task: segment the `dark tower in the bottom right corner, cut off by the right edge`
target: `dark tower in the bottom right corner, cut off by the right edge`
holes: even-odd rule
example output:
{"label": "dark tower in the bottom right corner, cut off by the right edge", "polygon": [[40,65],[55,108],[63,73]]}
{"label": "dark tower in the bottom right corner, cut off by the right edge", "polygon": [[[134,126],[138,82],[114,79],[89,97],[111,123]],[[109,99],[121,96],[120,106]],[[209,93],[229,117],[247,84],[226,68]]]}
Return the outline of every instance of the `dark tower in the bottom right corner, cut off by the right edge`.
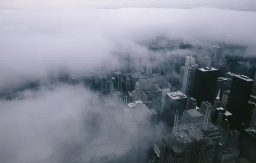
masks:
{"label": "dark tower in the bottom right corner, cut off by the right edge", "polygon": [[241,156],[251,163],[256,160],[256,129],[247,128],[241,132],[240,149]]}

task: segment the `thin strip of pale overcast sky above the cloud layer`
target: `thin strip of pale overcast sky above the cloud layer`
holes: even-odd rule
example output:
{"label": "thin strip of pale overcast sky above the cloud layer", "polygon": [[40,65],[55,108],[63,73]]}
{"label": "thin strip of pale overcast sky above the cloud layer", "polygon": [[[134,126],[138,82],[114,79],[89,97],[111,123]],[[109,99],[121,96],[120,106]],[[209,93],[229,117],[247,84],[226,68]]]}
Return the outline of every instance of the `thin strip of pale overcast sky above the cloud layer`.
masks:
{"label": "thin strip of pale overcast sky above the cloud layer", "polygon": [[255,10],[254,0],[1,0],[4,7],[39,7],[39,6],[93,6],[103,8],[119,7],[161,7],[190,8],[210,6],[239,10]]}

